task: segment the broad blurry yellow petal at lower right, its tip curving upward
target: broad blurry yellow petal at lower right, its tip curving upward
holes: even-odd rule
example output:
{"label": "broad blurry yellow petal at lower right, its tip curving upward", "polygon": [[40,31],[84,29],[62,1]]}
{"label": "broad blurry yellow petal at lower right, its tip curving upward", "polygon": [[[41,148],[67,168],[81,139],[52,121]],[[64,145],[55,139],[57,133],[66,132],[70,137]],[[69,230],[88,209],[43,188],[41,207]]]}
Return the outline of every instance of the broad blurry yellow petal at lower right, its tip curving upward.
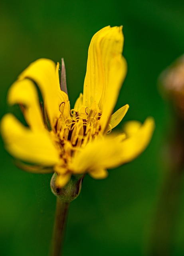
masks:
{"label": "broad blurry yellow petal at lower right, its tip curving upward", "polygon": [[75,154],[69,166],[73,173],[93,173],[97,170],[114,168],[136,158],[150,142],[154,130],[154,120],[147,118],[130,138],[107,136],[93,141]]}

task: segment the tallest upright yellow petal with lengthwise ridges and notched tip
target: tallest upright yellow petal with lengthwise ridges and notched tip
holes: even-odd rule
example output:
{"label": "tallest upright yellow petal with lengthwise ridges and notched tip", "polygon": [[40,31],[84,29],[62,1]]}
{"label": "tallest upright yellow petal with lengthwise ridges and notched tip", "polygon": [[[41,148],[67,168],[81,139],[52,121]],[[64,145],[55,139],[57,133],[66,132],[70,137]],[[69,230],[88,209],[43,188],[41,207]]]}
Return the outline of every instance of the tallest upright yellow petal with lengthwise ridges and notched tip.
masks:
{"label": "tallest upright yellow petal with lengthwise ridges and notched tip", "polygon": [[123,42],[122,26],[108,26],[93,36],[89,46],[83,105],[90,108],[93,102],[99,104],[102,131],[109,122],[127,73],[127,63],[122,56]]}

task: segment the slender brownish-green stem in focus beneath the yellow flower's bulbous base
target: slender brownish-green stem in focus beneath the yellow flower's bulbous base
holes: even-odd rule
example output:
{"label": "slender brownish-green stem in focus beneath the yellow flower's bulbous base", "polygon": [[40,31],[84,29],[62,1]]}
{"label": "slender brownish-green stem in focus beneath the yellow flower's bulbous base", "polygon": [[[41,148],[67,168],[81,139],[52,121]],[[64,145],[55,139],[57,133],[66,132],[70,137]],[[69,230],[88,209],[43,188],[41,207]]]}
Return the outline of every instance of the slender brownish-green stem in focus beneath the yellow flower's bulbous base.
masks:
{"label": "slender brownish-green stem in focus beneath the yellow flower's bulbous base", "polygon": [[69,204],[69,202],[63,202],[57,198],[50,256],[61,255]]}

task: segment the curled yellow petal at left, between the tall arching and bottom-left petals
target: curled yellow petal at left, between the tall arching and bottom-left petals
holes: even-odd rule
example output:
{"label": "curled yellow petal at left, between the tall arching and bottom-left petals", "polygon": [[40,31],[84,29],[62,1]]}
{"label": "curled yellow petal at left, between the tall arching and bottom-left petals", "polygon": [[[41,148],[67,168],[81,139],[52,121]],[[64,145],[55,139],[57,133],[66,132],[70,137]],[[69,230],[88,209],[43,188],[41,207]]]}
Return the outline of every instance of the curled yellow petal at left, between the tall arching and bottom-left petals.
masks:
{"label": "curled yellow petal at left, between the tall arching and bottom-left petals", "polygon": [[24,105],[24,117],[31,130],[43,130],[44,121],[39,106],[38,92],[31,80],[17,81],[8,91],[8,103]]}

